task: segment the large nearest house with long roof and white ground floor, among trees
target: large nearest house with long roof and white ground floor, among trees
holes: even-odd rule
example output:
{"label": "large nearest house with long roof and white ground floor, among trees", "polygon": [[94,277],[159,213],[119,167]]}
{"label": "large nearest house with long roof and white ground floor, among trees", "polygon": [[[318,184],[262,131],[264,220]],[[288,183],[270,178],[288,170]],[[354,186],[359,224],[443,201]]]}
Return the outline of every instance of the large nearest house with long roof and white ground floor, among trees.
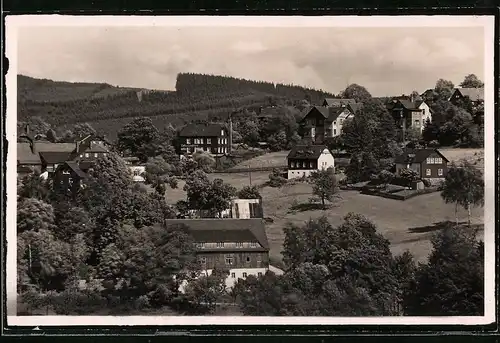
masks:
{"label": "large nearest house with long roof and white ground floor, among trees", "polygon": [[168,219],[165,224],[184,227],[193,237],[203,274],[210,275],[215,267],[229,270],[228,288],[240,278],[258,277],[269,270],[269,243],[262,219]]}

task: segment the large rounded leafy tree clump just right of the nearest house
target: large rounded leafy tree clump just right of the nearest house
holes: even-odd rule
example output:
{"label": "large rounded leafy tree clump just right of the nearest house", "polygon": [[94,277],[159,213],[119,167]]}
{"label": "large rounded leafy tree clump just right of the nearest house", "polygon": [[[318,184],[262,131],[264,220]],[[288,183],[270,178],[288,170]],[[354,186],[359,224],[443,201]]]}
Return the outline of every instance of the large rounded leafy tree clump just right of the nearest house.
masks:
{"label": "large rounded leafy tree clump just right of the nearest house", "polygon": [[303,227],[286,227],[285,273],[240,280],[234,293],[242,311],[246,315],[400,314],[402,285],[411,280],[412,259],[394,259],[389,241],[363,216],[350,213],[344,219],[338,227],[326,217]]}

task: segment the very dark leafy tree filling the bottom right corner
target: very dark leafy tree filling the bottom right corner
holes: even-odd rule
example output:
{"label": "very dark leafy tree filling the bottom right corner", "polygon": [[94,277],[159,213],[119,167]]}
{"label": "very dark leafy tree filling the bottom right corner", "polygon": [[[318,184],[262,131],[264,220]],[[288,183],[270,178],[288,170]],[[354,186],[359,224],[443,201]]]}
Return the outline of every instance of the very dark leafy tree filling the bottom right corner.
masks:
{"label": "very dark leafy tree filling the bottom right corner", "polygon": [[410,316],[484,315],[484,244],[452,225],[432,239],[429,261],[420,264],[405,298]]}

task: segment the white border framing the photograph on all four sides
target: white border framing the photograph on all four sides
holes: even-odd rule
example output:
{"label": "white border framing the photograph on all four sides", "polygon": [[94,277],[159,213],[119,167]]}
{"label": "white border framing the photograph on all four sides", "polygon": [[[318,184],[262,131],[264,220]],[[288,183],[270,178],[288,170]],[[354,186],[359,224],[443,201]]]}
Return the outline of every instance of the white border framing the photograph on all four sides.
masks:
{"label": "white border framing the photograph on all four sides", "polygon": [[[240,26],[240,27],[483,27],[485,82],[484,246],[485,306],[477,317],[220,317],[220,316],[17,316],[16,164],[17,164],[17,30],[23,26]],[[495,299],[495,82],[494,15],[401,16],[70,16],[9,15],[5,17],[8,144],[6,169],[6,298],[7,326],[206,326],[206,325],[487,325],[496,321]]]}

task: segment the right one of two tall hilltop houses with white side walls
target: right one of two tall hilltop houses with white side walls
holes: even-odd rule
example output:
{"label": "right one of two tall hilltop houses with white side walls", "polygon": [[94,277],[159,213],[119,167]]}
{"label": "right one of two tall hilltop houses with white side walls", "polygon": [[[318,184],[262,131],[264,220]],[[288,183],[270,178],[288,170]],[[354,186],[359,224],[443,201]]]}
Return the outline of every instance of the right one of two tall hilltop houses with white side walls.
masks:
{"label": "right one of two tall hilltop houses with white side walls", "polygon": [[423,100],[393,99],[387,104],[387,110],[396,125],[405,130],[416,129],[422,132],[427,119],[432,121],[432,111]]}

